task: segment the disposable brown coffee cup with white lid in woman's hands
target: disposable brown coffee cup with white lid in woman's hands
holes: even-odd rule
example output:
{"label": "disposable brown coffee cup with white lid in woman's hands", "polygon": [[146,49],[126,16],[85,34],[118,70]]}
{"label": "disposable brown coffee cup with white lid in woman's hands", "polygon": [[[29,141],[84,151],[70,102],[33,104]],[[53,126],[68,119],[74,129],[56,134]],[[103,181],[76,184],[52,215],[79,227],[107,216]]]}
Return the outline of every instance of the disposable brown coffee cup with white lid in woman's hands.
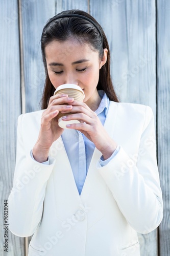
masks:
{"label": "disposable brown coffee cup with white lid in woman's hands", "polygon": [[[83,99],[85,98],[83,90],[80,88],[80,86],[76,86],[76,84],[71,84],[71,83],[66,83],[62,84],[59,86],[56,91],[54,92],[54,95],[56,94],[67,94],[68,97],[74,98],[75,100],[83,102]],[[63,121],[62,117],[63,116],[68,116],[71,115],[72,113],[66,113],[63,114],[61,112],[58,113],[57,115],[57,120],[58,120],[58,125],[63,128],[67,129],[66,125],[67,124],[72,124],[72,123],[80,123],[79,120],[69,120],[69,121]]]}

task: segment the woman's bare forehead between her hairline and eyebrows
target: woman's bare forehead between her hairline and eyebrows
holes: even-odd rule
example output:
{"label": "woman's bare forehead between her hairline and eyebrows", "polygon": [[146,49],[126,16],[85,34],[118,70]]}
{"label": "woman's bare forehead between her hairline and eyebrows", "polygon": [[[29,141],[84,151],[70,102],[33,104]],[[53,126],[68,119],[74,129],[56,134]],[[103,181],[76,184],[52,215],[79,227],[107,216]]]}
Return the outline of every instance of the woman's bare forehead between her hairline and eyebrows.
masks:
{"label": "woman's bare forehead between her hairline and eyebrows", "polygon": [[45,58],[50,61],[55,58],[55,61],[73,60],[77,58],[92,59],[98,57],[99,53],[91,49],[89,44],[80,42],[76,39],[66,41],[52,41],[45,47]]}

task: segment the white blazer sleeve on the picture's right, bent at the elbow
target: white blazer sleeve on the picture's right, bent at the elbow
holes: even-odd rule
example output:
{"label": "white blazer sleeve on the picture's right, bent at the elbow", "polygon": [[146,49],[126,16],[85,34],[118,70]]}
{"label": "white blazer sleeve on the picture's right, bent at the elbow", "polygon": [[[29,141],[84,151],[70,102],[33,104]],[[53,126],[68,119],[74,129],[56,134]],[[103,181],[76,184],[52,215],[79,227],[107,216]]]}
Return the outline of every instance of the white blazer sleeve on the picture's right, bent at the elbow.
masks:
{"label": "white blazer sleeve on the picture's right, bent at the elbow", "polygon": [[149,106],[145,108],[138,154],[129,157],[120,146],[119,152],[107,165],[101,167],[98,162],[97,166],[131,227],[139,233],[149,233],[157,228],[163,217],[163,201],[154,116]]}

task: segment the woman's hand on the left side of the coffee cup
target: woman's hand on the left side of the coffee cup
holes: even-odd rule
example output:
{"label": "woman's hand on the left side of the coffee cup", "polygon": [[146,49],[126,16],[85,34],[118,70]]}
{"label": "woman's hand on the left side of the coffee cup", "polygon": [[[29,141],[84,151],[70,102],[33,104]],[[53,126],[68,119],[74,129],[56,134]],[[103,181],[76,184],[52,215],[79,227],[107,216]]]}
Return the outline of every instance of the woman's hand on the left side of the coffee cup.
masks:
{"label": "woman's hand on the left side of the coffee cup", "polygon": [[65,103],[68,104],[72,101],[74,101],[73,98],[64,94],[57,94],[50,98],[47,109],[42,113],[38,140],[33,147],[33,156],[36,161],[44,162],[47,160],[51,145],[64,131],[58,125],[56,116],[60,111],[71,110],[72,105],[66,105]]}

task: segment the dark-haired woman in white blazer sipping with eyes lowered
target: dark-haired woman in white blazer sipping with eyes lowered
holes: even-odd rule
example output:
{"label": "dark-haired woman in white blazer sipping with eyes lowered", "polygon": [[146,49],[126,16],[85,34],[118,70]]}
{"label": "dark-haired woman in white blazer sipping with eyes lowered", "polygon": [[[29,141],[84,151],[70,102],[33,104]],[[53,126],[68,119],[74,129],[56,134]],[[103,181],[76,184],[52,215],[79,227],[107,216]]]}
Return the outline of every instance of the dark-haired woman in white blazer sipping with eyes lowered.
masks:
{"label": "dark-haired woman in white blazer sipping with eyes lowered", "polygon": [[[157,228],[163,211],[152,110],[118,102],[107,38],[86,12],[51,18],[41,49],[43,110],[18,118],[10,230],[34,234],[29,256],[138,256],[137,232]],[[65,83],[84,102],[53,96]],[[59,112],[80,123],[62,129]]]}

